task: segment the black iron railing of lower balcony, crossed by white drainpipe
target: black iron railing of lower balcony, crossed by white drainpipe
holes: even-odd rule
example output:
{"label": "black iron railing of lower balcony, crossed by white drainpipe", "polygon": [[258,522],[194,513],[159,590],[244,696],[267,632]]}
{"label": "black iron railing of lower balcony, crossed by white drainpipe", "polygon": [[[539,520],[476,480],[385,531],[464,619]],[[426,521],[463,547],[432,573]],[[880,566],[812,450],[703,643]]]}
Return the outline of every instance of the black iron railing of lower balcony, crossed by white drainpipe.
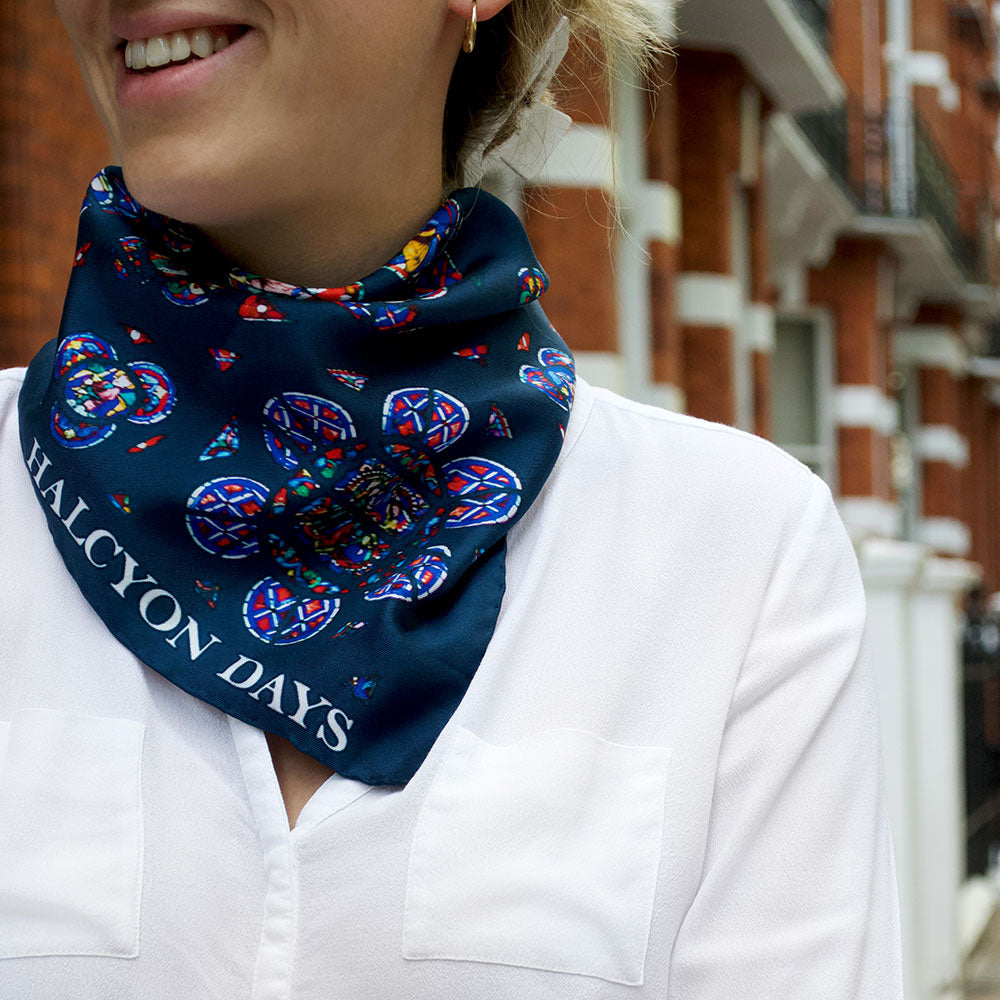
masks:
{"label": "black iron railing of lower balcony, crossed by white drainpipe", "polygon": [[866,113],[848,100],[796,121],[858,211],[934,222],[965,277],[982,280],[984,243],[963,231],[958,181],[911,106]]}

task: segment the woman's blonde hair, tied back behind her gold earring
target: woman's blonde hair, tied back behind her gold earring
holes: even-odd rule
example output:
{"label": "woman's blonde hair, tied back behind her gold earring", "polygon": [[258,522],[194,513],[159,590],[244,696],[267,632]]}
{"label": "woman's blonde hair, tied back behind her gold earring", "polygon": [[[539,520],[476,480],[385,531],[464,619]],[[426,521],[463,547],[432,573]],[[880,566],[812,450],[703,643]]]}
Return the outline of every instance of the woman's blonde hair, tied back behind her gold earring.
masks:
{"label": "woman's blonde hair, tied back behind her gold earring", "polygon": [[474,51],[459,56],[445,105],[445,178],[459,175],[462,147],[470,139],[493,133],[484,151],[489,153],[517,131],[521,112],[534,100],[557,104],[551,88],[542,94],[525,90],[535,57],[563,15],[571,37],[602,67],[612,119],[616,78],[645,80],[671,51],[651,0],[511,0],[480,22]]}

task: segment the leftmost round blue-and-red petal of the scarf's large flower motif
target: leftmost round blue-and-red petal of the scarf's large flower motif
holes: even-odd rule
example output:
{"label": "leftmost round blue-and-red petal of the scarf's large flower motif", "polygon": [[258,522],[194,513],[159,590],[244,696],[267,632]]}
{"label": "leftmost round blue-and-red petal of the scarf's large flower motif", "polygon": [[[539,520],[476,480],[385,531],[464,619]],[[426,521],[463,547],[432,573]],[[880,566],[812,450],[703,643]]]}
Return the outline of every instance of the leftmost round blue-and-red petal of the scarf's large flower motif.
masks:
{"label": "leftmost round blue-and-red petal of the scarf's large flower motif", "polygon": [[244,559],[260,549],[257,522],[267,487],[242,476],[223,476],[199,486],[188,499],[191,537],[206,552],[223,559]]}

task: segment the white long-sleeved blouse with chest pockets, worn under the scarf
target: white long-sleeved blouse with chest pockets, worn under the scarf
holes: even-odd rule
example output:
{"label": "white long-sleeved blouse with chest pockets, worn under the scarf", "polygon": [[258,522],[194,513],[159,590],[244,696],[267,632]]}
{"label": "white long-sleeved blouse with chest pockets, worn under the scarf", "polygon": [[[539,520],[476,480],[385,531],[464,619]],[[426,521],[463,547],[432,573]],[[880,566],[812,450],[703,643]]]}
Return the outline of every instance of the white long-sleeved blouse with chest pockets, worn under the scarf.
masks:
{"label": "white long-sleeved blouse with chest pockets, worn under the scarf", "polygon": [[864,592],[805,466],[581,381],[430,756],[403,789],[331,777],[289,831],[263,732],[145,667],[63,568],[22,374],[0,997],[900,1000]]}

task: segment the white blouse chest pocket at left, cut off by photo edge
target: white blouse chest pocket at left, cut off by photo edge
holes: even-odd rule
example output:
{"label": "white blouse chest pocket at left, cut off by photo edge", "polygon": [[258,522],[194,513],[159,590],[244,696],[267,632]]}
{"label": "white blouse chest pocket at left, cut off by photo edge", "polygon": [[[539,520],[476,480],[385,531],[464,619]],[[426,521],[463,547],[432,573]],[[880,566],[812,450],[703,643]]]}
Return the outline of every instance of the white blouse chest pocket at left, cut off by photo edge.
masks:
{"label": "white blouse chest pocket at left, cut off by photo edge", "polygon": [[141,723],[0,722],[0,958],[139,951]]}

